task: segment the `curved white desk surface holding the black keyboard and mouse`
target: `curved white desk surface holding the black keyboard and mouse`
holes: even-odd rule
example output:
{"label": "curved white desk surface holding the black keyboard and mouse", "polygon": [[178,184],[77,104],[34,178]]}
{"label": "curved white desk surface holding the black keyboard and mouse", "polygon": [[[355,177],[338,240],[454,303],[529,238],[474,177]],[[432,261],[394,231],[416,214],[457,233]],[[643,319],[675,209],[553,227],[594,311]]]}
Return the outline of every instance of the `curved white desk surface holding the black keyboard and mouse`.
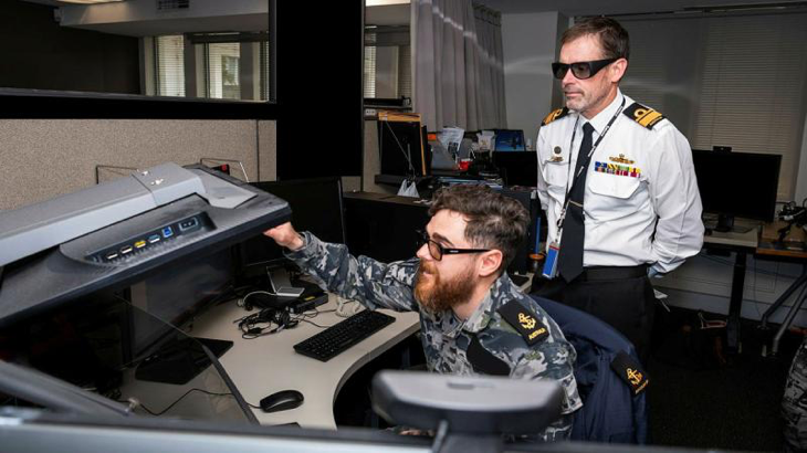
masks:
{"label": "curved white desk surface holding the black keyboard and mouse", "polygon": [[[318,308],[321,312],[336,308],[335,296]],[[211,308],[196,320],[189,334],[234,343],[219,360],[247,402],[258,405],[261,399],[280,390],[293,389],[303,393],[305,401],[296,409],[273,413],[253,409],[261,424],[296,422],[303,428],[335,430],[333,404],[345,381],[363,365],[420,328],[417,313],[382,312],[395,316],[396,322],[326,362],[294,351],[295,344],[323,330],[305,322],[265,337],[241,338],[241,330],[233,320],[249,312],[234,302]],[[322,313],[311,320],[332,326],[342,319],[336,313]]]}

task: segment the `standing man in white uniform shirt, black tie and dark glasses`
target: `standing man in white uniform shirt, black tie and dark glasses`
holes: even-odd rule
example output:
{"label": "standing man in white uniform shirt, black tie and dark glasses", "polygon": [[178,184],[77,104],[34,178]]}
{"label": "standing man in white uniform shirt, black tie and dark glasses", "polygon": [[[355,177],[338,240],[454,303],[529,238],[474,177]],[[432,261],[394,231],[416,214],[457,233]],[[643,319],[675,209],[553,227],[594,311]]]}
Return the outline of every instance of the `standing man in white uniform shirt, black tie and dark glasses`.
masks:
{"label": "standing man in white uniform shirt, black tie and dark glasses", "polygon": [[553,73],[566,107],[544,119],[537,139],[556,267],[534,292],[609,323],[646,359],[656,302],[648,276],[696,254],[703,223],[689,141],[619,89],[628,56],[628,32],[609,18],[578,22],[560,40]]}

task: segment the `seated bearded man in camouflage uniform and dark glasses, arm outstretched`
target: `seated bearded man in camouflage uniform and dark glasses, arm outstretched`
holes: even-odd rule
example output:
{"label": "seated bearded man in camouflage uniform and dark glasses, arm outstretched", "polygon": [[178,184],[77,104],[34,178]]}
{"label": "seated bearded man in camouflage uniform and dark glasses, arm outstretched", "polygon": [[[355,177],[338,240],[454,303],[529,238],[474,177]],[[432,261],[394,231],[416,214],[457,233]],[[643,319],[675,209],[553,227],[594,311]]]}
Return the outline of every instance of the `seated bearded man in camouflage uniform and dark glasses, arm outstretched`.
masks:
{"label": "seated bearded man in camouflage uniform and dark glasses, arm outstretched", "polygon": [[454,186],[436,194],[429,214],[417,259],[390,264],[356,259],[291,223],[264,234],[332,293],[370,309],[419,312],[429,370],[556,380],[565,391],[563,417],[537,434],[568,439],[572,413],[583,405],[575,349],[504,272],[526,234],[526,210],[488,187]]}

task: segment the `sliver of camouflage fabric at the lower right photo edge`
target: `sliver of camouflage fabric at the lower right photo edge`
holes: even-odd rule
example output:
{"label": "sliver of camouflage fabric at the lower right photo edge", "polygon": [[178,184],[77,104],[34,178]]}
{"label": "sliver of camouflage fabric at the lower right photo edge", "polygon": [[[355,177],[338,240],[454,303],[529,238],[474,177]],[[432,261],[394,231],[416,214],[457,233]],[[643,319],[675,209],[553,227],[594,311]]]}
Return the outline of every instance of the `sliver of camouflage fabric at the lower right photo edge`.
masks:
{"label": "sliver of camouflage fabric at the lower right photo edge", "polygon": [[785,420],[785,450],[807,451],[807,337],[793,358],[782,399]]}

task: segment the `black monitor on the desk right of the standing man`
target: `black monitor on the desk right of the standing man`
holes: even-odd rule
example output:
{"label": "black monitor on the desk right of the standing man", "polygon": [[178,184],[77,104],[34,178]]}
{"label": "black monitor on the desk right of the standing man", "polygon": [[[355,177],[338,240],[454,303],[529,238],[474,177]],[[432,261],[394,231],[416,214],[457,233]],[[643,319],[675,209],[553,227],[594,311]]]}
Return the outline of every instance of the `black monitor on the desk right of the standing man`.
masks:
{"label": "black monitor on the desk right of the standing man", "polygon": [[780,155],[692,150],[703,210],[719,214],[717,231],[734,218],[772,222],[776,212]]}

